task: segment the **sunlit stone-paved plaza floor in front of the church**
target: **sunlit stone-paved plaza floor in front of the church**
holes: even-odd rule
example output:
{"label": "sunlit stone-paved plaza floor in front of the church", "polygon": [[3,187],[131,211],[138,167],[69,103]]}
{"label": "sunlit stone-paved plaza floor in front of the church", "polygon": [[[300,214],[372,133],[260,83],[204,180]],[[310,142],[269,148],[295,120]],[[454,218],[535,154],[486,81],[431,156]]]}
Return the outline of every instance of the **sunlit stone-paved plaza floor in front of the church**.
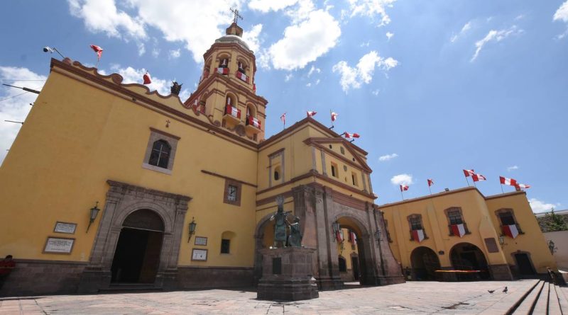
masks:
{"label": "sunlit stone-paved plaza floor in front of the church", "polygon": [[512,294],[535,283],[407,282],[323,291],[319,299],[298,302],[257,300],[253,290],[10,297],[0,298],[0,314],[503,314]]}

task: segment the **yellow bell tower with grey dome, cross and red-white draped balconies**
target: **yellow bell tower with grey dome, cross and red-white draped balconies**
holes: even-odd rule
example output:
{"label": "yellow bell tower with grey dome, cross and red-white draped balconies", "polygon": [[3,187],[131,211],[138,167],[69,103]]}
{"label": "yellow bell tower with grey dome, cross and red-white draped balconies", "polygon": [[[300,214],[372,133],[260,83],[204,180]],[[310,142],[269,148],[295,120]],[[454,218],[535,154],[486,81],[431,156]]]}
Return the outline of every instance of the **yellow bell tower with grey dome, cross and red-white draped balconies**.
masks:
{"label": "yellow bell tower with grey dome, cross and red-white draped balconies", "polygon": [[256,95],[256,59],[236,23],[239,11],[231,11],[234,21],[204,53],[200,83],[184,105],[213,125],[258,143],[264,139],[268,101]]}

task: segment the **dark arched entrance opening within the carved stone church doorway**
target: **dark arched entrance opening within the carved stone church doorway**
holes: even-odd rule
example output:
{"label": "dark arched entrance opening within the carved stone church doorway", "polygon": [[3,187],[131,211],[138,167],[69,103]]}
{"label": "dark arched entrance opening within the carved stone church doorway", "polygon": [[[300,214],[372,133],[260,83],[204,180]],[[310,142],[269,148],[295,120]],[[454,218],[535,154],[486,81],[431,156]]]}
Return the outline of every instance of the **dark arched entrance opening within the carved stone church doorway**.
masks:
{"label": "dark arched entrance opening within the carved stone church doorway", "polygon": [[124,219],[111,266],[111,282],[153,283],[160,264],[164,223],[152,210]]}

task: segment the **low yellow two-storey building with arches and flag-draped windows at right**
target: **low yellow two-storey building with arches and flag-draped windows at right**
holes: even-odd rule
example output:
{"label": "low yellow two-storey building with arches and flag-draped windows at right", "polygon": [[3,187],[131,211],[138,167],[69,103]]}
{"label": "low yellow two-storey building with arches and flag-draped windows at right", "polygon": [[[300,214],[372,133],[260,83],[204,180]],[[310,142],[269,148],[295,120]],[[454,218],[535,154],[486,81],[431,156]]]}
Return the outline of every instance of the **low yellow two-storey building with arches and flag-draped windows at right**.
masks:
{"label": "low yellow two-storey building with arches and flag-draped windows at right", "polygon": [[557,269],[523,191],[486,197],[461,188],[379,210],[395,258],[413,280],[511,280]]}

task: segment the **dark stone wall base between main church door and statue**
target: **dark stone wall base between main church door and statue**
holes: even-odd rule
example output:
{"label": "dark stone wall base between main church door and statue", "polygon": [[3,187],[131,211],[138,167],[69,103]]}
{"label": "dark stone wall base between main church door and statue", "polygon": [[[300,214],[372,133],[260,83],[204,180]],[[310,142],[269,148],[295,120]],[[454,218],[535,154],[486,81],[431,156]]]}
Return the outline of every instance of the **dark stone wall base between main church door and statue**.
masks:
{"label": "dark stone wall base between main church door and statue", "polygon": [[253,268],[180,266],[177,283],[180,290],[252,287]]}

